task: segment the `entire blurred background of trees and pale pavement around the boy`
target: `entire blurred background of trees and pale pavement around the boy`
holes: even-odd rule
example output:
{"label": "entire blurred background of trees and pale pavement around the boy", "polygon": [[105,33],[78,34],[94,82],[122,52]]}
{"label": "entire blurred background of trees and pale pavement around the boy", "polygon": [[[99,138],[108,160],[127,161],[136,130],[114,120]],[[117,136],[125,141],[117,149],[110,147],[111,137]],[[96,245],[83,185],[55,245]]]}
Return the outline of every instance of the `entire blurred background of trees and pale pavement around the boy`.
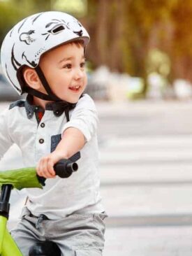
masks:
{"label": "entire blurred background of trees and pale pavement around the boy", "polygon": [[[27,15],[61,10],[91,36],[87,93],[100,123],[104,256],[192,252],[192,1],[0,0],[0,45]],[[0,111],[19,99],[0,67]],[[20,167],[13,145],[0,169]],[[14,192],[10,228],[23,205]]]}

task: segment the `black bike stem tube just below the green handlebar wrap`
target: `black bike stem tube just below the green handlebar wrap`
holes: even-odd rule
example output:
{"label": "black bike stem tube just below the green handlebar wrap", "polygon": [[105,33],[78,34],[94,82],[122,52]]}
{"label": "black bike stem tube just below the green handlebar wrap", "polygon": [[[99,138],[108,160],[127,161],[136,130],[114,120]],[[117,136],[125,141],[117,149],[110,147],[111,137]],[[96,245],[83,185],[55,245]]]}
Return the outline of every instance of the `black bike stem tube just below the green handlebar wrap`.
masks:
{"label": "black bike stem tube just below the green handlebar wrap", "polygon": [[4,216],[8,219],[9,215],[9,199],[10,199],[10,192],[12,190],[12,185],[6,184],[2,185],[1,187],[1,197],[0,197],[0,215]]}

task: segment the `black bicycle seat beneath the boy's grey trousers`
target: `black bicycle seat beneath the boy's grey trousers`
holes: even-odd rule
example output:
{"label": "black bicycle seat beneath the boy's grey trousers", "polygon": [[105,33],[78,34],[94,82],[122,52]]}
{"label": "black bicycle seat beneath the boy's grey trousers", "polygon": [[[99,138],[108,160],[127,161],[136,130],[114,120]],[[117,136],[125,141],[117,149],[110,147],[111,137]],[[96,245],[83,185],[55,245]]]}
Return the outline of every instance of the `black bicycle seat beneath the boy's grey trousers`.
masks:
{"label": "black bicycle seat beneath the boy's grey trousers", "polygon": [[61,256],[57,243],[52,241],[38,241],[29,249],[29,256]]}

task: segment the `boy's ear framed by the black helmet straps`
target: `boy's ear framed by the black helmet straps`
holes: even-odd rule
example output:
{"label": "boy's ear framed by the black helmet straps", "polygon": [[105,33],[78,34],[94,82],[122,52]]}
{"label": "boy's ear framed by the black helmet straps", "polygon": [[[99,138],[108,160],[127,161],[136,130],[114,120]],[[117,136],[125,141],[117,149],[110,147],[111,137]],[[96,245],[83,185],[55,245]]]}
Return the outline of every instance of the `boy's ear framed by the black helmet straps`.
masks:
{"label": "boy's ear framed by the black helmet straps", "polygon": [[36,73],[35,69],[24,67],[22,74],[25,82],[27,83],[27,85],[29,85],[29,87],[32,87],[36,90],[40,88],[40,79],[38,78],[38,74]]}

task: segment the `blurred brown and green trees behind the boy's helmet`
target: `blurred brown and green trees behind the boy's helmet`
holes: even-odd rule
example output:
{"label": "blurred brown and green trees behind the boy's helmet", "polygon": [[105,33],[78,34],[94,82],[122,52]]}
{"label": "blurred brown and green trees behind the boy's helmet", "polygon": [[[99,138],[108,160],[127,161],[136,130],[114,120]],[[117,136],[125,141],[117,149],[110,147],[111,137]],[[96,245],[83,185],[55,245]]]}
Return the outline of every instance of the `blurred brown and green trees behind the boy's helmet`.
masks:
{"label": "blurred brown and green trees behind the boy's helmet", "polygon": [[[170,57],[170,80],[192,81],[192,1],[183,0],[0,0],[0,45],[16,22],[32,13],[61,8],[80,18],[91,36],[93,66],[147,77],[147,57],[158,49]],[[81,12],[75,12],[75,8]],[[86,14],[87,10],[87,14]],[[145,79],[146,80],[146,79]],[[144,87],[144,93],[146,86]]]}

